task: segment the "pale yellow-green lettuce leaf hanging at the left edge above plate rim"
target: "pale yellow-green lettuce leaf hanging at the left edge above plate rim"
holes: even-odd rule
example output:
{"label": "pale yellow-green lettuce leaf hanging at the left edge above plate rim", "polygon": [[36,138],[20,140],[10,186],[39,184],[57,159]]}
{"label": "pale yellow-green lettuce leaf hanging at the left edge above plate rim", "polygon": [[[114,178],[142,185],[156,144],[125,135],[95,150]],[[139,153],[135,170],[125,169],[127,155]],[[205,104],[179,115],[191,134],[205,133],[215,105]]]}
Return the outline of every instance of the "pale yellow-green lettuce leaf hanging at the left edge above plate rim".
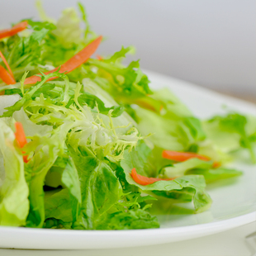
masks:
{"label": "pale yellow-green lettuce leaf hanging at the left edge above plate rim", "polygon": [[28,194],[21,152],[17,150],[13,120],[0,119],[0,225],[26,224],[29,211]]}

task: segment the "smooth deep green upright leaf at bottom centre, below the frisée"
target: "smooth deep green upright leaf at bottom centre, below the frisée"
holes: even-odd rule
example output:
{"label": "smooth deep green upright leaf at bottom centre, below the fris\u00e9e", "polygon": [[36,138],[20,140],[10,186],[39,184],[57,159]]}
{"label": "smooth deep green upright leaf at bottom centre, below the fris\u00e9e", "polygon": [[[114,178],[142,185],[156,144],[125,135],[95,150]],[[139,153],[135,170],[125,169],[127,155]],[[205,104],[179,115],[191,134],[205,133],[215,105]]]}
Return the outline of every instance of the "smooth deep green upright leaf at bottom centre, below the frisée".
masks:
{"label": "smooth deep green upright leaf at bottom centre, below the fris\u00e9e", "polygon": [[72,154],[82,192],[81,214],[74,228],[92,230],[97,218],[120,199],[122,189],[115,172],[108,164],[92,154],[88,155],[88,150],[83,150],[83,154]]}

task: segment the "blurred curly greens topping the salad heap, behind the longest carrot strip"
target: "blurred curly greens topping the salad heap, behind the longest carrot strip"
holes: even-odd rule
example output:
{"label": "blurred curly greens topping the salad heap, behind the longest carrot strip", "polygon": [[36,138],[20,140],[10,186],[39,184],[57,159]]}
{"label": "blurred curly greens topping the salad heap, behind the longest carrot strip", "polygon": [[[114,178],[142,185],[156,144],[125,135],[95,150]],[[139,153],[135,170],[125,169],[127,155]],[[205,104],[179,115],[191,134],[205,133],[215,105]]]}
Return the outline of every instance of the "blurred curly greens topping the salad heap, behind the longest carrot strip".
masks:
{"label": "blurred curly greens topping the salad heap, behind the longest carrot strip", "polygon": [[[35,74],[64,64],[97,37],[88,26],[88,19],[81,4],[78,4],[78,7],[82,18],[73,8],[67,8],[58,21],[46,17],[40,4],[39,6],[43,21],[26,19],[29,30],[21,36],[15,35],[3,40],[0,45],[16,81],[21,79],[25,71]],[[82,22],[86,24],[85,31],[81,26]],[[79,73],[77,70],[73,73],[76,74],[77,82]],[[69,76],[73,77],[73,73]]]}

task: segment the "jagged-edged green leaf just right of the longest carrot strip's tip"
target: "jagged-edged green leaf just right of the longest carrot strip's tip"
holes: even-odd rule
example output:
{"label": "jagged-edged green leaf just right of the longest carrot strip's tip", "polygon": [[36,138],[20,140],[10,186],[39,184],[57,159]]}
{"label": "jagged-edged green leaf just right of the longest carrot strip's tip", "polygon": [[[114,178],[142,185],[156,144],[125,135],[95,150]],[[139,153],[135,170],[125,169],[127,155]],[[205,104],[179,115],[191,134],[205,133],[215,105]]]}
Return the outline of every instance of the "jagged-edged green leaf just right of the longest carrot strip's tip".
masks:
{"label": "jagged-edged green leaf just right of the longest carrot strip's tip", "polygon": [[[149,89],[149,78],[142,73],[139,61],[132,61],[127,67],[118,61],[128,52],[130,48],[122,48],[109,59],[90,59],[84,65],[88,76],[120,103],[152,93]],[[92,72],[92,67],[97,67],[97,73]]]}

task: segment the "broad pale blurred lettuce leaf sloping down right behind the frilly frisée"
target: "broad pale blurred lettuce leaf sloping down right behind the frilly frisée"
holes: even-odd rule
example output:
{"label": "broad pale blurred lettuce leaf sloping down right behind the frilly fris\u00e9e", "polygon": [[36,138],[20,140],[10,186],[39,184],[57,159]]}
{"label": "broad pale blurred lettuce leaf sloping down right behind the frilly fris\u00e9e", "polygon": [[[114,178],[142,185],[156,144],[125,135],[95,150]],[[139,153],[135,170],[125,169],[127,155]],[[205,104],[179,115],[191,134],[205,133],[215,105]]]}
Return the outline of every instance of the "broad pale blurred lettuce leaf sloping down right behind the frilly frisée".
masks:
{"label": "broad pale blurred lettuce leaf sloping down right behind the frilly fris\u00e9e", "polygon": [[[150,105],[149,99],[151,99]],[[148,97],[140,99],[135,108],[135,120],[142,134],[153,133],[149,140],[161,149],[188,151],[206,139],[201,127],[201,121],[192,116],[173,93],[161,89]],[[138,102],[135,102],[138,103]],[[160,105],[160,107],[159,107]]]}

